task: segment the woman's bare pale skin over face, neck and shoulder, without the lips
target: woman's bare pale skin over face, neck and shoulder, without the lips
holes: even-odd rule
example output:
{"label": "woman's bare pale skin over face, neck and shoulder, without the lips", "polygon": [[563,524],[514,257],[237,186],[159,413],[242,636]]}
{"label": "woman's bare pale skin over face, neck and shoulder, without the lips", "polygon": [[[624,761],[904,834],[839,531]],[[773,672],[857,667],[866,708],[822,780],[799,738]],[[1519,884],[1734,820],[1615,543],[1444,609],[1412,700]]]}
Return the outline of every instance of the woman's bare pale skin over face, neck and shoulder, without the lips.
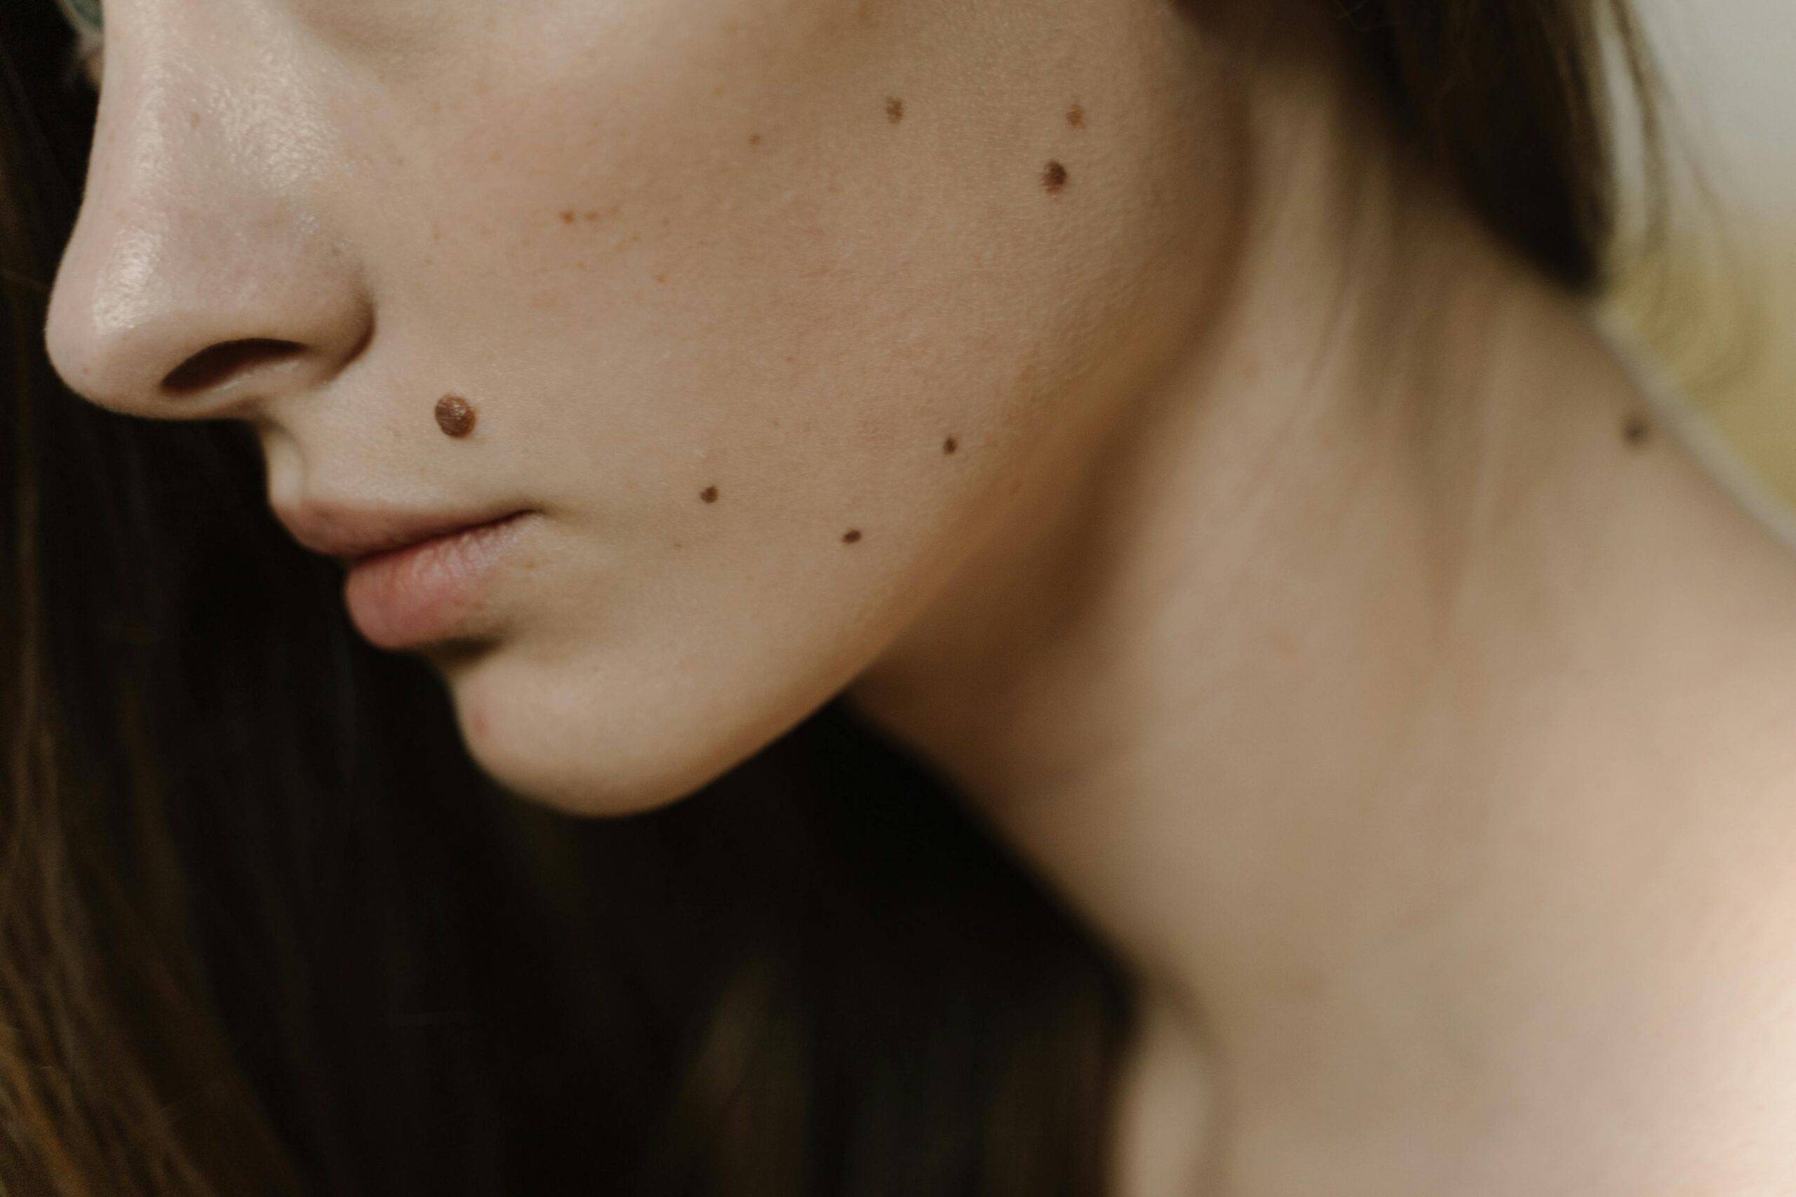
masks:
{"label": "woman's bare pale skin over face, neck and shoulder, without the lips", "polygon": [[846,690],[1131,969],[1121,1197],[1789,1192],[1796,563],[1320,7],[111,0],[52,359],[530,503],[521,796]]}

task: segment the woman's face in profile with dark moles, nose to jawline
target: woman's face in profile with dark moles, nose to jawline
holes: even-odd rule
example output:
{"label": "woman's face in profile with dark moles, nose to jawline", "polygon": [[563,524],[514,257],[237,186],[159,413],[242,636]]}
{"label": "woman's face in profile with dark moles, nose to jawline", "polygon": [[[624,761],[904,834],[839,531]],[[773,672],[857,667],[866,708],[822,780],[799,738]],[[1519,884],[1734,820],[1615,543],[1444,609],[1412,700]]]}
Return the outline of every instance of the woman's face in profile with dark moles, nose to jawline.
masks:
{"label": "woman's face in profile with dark moles, nose to jawline", "polygon": [[108,0],[52,359],[250,421],[318,548],[530,512],[350,609],[497,780],[641,809],[876,665],[1171,358],[1200,41],[1171,0]]}

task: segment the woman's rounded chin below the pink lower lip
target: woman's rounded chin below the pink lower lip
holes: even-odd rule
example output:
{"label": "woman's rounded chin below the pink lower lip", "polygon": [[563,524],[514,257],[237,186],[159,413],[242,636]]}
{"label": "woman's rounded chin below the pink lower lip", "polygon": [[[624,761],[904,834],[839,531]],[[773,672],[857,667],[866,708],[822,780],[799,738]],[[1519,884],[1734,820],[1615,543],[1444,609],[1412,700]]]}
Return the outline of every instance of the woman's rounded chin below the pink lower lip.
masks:
{"label": "woman's rounded chin below the pink lower lip", "polygon": [[828,699],[756,705],[751,694],[697,692],[670,685],[665,674],[650,681],[503,656],[454,672],[449,690],[481,771],[517,798],[587,818],[672,805]]}

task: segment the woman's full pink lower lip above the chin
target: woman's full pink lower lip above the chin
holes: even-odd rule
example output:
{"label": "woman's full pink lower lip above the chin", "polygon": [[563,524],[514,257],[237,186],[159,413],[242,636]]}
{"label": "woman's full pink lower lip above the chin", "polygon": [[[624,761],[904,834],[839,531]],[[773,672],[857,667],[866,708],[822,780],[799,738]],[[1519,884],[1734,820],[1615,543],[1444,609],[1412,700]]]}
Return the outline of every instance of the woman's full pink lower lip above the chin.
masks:
{"label": "woman's full pink lower lip above the chin", "polygon": [[379,649],[451,638],[517,541],[530,512],[474,525],[357,561],[343,584],[356,629]]}

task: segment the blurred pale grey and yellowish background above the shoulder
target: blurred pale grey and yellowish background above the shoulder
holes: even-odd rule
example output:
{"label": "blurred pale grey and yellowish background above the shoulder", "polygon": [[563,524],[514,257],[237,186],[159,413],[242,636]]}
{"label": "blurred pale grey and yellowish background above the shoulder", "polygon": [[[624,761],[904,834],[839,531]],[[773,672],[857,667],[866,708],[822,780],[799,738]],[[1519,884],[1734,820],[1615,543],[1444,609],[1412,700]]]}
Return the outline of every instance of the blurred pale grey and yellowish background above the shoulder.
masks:
{"label": "blurred pale grey and yellowish background above the shoulder", "polygon": [[1681,185],[1618,304],[1796,505],[1796,0],[1638,5],[1674,106]]}

